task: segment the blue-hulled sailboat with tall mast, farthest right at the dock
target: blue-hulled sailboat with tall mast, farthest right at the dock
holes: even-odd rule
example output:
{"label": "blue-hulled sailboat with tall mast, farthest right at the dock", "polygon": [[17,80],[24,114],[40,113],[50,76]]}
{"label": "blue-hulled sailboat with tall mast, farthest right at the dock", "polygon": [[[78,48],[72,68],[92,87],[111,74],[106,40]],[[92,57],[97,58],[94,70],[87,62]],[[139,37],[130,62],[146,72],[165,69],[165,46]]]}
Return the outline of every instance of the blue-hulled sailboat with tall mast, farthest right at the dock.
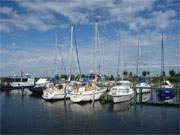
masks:
{"label": "blue-hulled sailboat with tall mast, farthest right at the dock", "polygon": [[[172,95],[175,95],[175,90],[168,89],[173,88],[174,86],[165,78],[164,74],[164,42],[163,42],[163,33],[161,35],[161,84],[160,87],[162,89],[159,90],[158,95],[159,97],[171,97]],[[163,89],[165,88],[165,89]]]}

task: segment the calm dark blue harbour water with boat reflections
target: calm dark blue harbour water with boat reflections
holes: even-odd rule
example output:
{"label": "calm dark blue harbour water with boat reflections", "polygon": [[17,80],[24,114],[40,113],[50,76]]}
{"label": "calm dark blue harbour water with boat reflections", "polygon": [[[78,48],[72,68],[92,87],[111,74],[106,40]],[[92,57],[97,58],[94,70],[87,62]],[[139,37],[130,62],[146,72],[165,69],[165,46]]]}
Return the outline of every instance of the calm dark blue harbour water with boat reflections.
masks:
{"label": "calm dark blue harbour water with boat reflections", "polygon": [[46,102],[29,93],[22,97],[17,91],[1,93],[0,102],[1,132],[6,134],[180,133],[176,107]]}

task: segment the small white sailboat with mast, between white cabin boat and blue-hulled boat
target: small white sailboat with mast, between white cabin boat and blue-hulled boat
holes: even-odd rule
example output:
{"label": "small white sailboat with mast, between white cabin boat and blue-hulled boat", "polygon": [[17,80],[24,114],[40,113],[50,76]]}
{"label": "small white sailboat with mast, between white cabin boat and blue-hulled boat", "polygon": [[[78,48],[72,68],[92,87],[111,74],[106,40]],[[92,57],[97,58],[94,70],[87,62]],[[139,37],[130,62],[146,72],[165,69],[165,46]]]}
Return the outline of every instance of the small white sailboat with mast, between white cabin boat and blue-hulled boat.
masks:
{"label": "small white sailboat with mast, between white cabin boat and blue-hulled boat", "polygon": [[[138,55],[137,55],[137,67],[136,67],[136,75],[137,77],[139,77],[139,61],[140,61],[140,44],[139,44],[139,39],[138,39]],[[139,79],[138,79],[139,81]],[[148,92],[151,92],[151,89],[149,89],[151,87],[151,85],[149,85],[148,83],[146,83],[145,81],[141,81],[141,82],[138,82],[136,84],[136,87],[143,87],[142,89],[142,93],[148,93]],[[136,89],[136,93],[139,94],[140,93],[140,88],[137,88]]]}

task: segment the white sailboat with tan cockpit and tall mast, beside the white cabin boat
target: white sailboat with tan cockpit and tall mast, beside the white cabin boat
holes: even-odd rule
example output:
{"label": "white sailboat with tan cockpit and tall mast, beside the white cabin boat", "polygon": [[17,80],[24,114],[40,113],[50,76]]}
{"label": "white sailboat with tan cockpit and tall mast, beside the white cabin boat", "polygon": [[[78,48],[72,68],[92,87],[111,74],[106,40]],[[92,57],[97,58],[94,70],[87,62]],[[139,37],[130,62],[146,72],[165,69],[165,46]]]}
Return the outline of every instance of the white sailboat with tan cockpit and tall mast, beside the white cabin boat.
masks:
{"label": "white sailboat with tan cockpit and tall mast, beside the white cabin boat", "polygon": [[[100,44],[99,44],[99,32],[98,32],[98,23],[95,23],[95,50],[94,50],[94,57],[95,59],[99,60],[99,65],[97,69],[100,73],[102,69],[102,52],[100,51]],[[99,52],[97,52],[99,51]],[[98,58],[96,54],[99,53],[101,56]],[[95,60],[96,61],[96,60]],[[95,62],[94,61],[94,62]],[[95,65],[97,63],[95,62]],[[97,86],[97,78],[90,83],[85,85],[77,84],[77,89],[73,90],[70,95],[70,100],[72,102],[88,102],[88,101],[95,101],[99,100],[100,97],[106,92],[107,88],[105,87],[98,87]]]}

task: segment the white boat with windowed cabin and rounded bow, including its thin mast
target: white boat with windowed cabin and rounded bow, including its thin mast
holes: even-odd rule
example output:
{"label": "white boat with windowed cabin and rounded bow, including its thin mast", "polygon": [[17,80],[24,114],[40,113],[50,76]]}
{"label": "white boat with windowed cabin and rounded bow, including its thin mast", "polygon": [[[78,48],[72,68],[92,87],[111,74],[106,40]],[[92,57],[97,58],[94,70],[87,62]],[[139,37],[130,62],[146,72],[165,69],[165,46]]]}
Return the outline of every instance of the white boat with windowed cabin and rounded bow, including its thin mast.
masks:
{"label": "white boat with windowed cabin and rounded bow, including its thin mast", "polygon": [[[120,53],[120,49],[122,51],[122,48],[120,48],[119,45],[118,53]],[[119,59],[120,59],[120,54],[118,54],[117,75],[119,71]],[[134,91],[132,89],[132,83],[130,81],[124,80],[123,75],[121,81],[118,81],[117,84],[113,86],[108,92],[108,99],[111,100],[113,103],[130,101],[133,97],[134,97]]]}

